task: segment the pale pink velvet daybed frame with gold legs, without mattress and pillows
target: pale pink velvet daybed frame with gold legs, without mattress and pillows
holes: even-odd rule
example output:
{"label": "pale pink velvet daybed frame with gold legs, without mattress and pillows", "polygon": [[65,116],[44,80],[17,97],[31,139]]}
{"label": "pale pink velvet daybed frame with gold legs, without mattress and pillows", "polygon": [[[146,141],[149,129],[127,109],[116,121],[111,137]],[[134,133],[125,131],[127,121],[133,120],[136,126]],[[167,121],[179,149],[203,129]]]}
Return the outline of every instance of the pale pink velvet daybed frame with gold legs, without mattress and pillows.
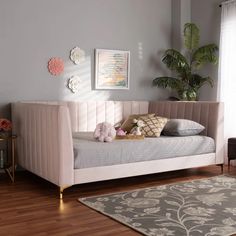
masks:
{"label": "pale pink velvet daybed frame with gold legs, without mattress and pillows", "polygon": [[[18,135],[18,164],[59,186],[61,197],[63,190],[74,184],[207,165],[222,165],[224,161],[222,105],[218,102],[172,101],[13,103],[13,127]],[[205,126],[202,135],[214,139],[214,150],[205,154],[186,154],[187,156],[153,160],[147,155],[152,152],[149,148],[153,148],[153,145],[149,147],[148,140],[145,140],[147,145],[146,148],[140,149],[139,161],[132,162],[129,157],[124,156],[124,153],[120,153],[120,156],[123,155],[129,161],[102,166],[101,164],[85,165],[75,169],[72,132],[93,131],[97,123],[108,121],[115,124],[130,114],[148,112],[168,118],[190,119],[202,124]],[[76,142],[78,143],[79,140],[77,139]],[[112,145],[111,143],[100,144],[103,145],[104,151]]]}

